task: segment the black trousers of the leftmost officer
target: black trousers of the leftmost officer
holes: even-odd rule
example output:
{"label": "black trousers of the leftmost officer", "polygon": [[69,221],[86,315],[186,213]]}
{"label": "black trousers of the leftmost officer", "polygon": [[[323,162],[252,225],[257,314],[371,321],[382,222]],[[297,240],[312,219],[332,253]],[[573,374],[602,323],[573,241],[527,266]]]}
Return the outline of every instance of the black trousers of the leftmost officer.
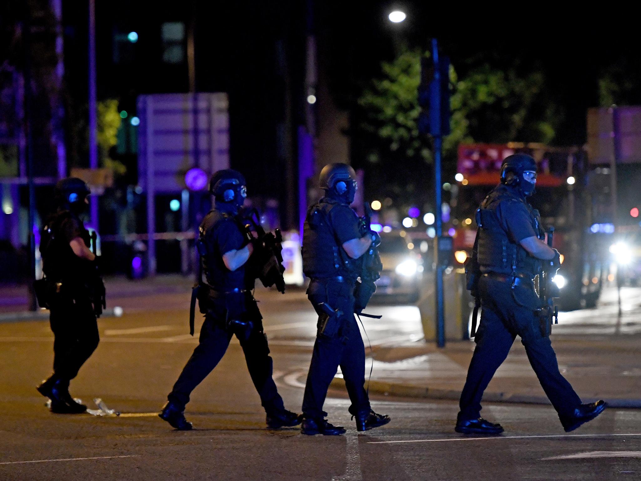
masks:
{"label": "black trousers of the leftmost officer", "polygon": [[71,380],[100,341],[94,308],[88,300],[58,301],[51,306],[49,324],[54,335],[53,372]]}

